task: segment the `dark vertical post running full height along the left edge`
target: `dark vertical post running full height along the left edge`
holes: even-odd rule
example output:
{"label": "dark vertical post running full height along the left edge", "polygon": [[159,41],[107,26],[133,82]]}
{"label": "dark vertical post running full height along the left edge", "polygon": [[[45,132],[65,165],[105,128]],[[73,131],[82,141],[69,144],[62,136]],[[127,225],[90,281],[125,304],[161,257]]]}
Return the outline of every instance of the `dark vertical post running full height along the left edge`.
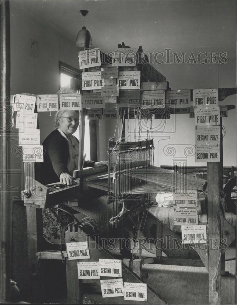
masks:
{"label": "dark vertical post running full height along the left edge", "polygon": [[[9,1],[0,3],[0,168],[10,169],[11,107],[10,107],[10,17]],[[0,302],[10,300],[10,272],[11,272],[11,237],[12,237],[12,192],[6,191],[8,185],[7,173],[0,175]]]}

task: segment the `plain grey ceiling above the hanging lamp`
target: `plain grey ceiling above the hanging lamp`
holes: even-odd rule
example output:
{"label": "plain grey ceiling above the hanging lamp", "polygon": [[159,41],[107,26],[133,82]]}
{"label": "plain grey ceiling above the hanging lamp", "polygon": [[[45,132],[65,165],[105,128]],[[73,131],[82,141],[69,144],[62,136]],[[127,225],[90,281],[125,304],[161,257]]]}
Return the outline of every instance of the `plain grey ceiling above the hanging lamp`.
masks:
{"label": "plain grey ceiling above the hanging lamp", "polygon": [[34,18],[75,41],[80,9],[93,47],[104,52],[118,43],[145,52],[227,52],[236,56],[236,1],[190,0],[11,0]]}

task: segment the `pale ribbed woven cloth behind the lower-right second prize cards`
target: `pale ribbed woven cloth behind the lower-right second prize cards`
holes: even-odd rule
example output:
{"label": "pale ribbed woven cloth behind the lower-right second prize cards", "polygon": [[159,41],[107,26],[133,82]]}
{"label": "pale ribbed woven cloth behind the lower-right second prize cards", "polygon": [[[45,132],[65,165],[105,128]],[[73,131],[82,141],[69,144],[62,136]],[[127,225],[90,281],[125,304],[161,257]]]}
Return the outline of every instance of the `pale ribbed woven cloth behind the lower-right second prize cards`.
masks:
{"label": "pale ribbed woven cloth behind the lower-right second prize cards", "polygon": [[[152,206],[148,209],[148,211],[155,216],[157,219],[163,222],[168,228],[170,228],[174,232],[181,232],[181,226],[174,225],[174,208],[173,207],[159,207]],[[232,226],[236,226],[236,215],[233,213],[225,213],[225,219],[232,224]],[[207,215],[201,215],[201,221],[207,221]]]}

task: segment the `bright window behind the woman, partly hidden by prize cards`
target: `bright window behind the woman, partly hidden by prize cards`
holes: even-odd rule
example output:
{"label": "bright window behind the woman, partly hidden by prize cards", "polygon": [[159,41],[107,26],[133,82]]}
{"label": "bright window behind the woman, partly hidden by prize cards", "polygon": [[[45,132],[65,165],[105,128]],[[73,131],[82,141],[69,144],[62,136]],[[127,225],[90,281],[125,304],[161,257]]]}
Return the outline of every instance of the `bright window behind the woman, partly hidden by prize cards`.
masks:
{"label": "bright window behind the woman, partly hidden by prize cards", "polygon": [[[59,71],[61,76],[61,87],[70,85],[72,77],[81,78],[81,71],[77,70],[65,63],[59,62]],[[74,136],[79,140],[79,127],[77,128]],[[84,152],[86,154],[86,160],[90,160],[90,131],[89,131],[89,120],[85,117],[85,136],[84,136]]]}

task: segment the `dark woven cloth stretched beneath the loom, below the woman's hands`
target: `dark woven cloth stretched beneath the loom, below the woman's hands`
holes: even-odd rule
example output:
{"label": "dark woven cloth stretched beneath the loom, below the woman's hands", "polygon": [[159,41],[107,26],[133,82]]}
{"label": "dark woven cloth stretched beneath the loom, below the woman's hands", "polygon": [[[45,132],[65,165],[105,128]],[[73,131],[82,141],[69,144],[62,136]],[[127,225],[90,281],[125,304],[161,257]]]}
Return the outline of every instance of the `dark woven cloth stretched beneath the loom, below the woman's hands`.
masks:
{"label": "dark woven cloth stretched beneath the loom, below the woman's hands", "polygon": [[82,202],[80,203],[80,206],[76,208],[76,210],[96,220],[99,224],[101,233],[108,230],[109,220],[113,216],[113,205],[107,203],[107,196]]}

